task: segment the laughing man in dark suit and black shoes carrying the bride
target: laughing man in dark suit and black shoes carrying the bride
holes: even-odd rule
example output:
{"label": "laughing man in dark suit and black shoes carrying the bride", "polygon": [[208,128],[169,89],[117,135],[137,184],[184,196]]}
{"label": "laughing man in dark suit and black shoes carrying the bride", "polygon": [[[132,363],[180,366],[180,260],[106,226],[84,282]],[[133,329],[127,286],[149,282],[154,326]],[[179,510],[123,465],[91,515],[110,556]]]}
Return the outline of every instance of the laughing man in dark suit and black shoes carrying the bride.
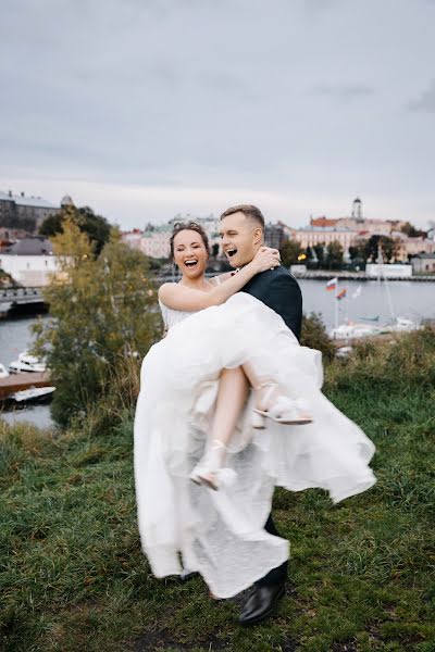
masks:
{"label": "laughing man in dark suit and black shoes carrying the bride", "polygon": [[[243,267],[251,262],[264,243],[264,217],[257,206],[240,204],[227,209],[221,215],[222,247],[232,267]],[[302,322],[302,296],[289,272],[283,266],[257,274],[240,290],[252,294],[281,315],[295,336],[300,338]],[[272,514],[264,529],[279,536]],[[244,604],[239,622],[253,625],[266,618],[285,592],[287,564],[284,562],[256,582],[253,591]]]}

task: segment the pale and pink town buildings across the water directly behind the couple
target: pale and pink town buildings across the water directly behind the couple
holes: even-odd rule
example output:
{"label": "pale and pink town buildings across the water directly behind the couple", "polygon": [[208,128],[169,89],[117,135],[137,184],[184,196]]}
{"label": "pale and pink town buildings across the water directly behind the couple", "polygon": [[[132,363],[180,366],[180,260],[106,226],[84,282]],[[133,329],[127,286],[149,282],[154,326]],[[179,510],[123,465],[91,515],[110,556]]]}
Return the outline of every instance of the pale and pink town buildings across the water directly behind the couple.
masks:
{"label": "pale and pink town buildings across the water directly behind the couple", "polygon": [[[148,224],[144,230],[134,229],[123,234],[123,240],[130,247],[139,249],[146,255],[156,259],[167,259],[170,251],[170,237],[176,222],[192,220],[204,228],[211,248],[217,256],[222,255],[219,236],[219,218],[213,215],[198,217],[190,214],[178,214],[163,225]],[[339,242],[343,247],[345,260],[349,260],[349,249],[366,242],[371,236],[381,235],[395,242],[394,259],[397,262],[408,262],[418,254],[435,253],[435,231],[432,237],[409,237],[401,231],[405,222],[398,220],[365,218],[362,214],[362,202],[357,198],[352,203],[351,214],[346,217],[331,220],[328,217],[311,218],[310,224],[300,228],[293,228],[284,222],[268,224],[265,242],[270,247],[281,249],[286,240],[295,240],[302,250],[318,244],[327,247],[331,242]]]}

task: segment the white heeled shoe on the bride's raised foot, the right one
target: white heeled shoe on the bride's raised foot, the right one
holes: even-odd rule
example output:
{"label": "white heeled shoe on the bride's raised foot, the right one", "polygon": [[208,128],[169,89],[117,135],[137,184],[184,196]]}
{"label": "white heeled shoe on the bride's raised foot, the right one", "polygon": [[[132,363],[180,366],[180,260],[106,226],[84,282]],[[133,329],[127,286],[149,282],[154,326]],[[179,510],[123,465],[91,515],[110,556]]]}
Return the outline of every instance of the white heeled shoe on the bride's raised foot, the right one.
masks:
{"label": "white heeled shoe on the bride's raised foot, the right one", "polygon": [[[262,397],[262,401],[268,404],[268,400],[273,392],[276,392],[278,386],[276,383],[264,383],[256,389],[268,387],[269,391]],[[264,418],[271,418],[277,424],[288,426],[303,426],[311,424],[313,418],[307,411],[307,403],[302,399],[290,399],[285,394],[279,393],[276,400],[273,401],[266,410],[253,409],[252,427],[264,428]]]}

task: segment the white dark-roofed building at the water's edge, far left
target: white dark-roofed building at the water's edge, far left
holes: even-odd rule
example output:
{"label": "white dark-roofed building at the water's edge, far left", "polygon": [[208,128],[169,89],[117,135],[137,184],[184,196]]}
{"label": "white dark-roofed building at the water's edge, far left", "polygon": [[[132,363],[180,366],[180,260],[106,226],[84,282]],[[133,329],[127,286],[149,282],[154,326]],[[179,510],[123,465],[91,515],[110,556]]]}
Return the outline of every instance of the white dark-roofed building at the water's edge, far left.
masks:
{"label": "white dark-roofed building at the water's edge, far left", "polygon": [[0,267],[24,287],[41,287],[58,271],[58,259],[50,240],[23,238],[0,253]]}

